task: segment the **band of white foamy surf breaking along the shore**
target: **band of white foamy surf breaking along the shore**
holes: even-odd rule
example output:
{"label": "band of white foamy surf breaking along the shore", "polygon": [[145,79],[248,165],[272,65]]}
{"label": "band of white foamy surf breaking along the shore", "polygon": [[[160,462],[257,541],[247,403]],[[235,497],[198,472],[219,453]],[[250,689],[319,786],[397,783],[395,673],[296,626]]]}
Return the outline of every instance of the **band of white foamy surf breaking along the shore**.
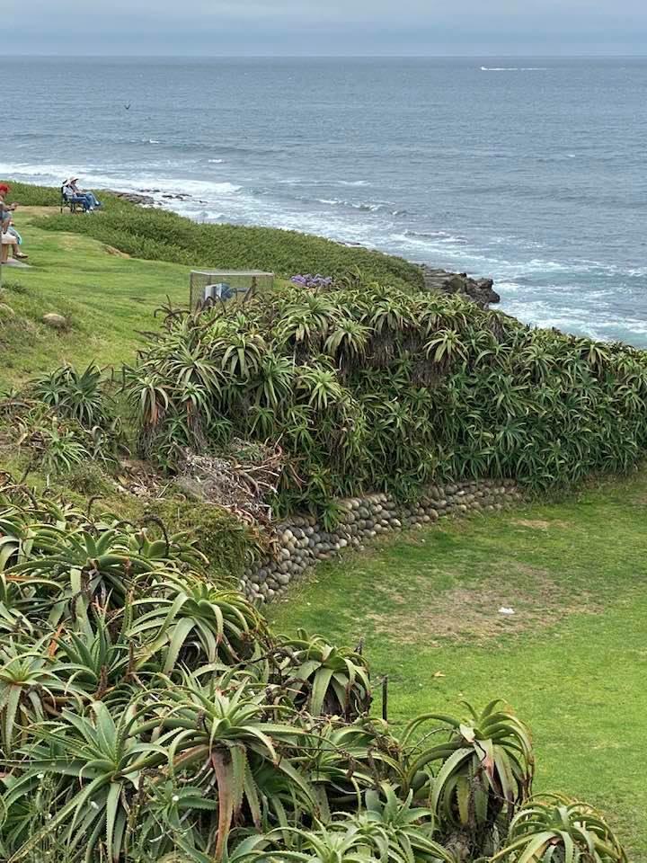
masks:
{"label": "band of white foamy surf breaking along the shore", "polygon": [[[70,173],[75,173],[81,175],[88,188],[155,189],[158,190],[155,192],[158,204],[198,221],[231,221],[306,231],[382,248],[447,269],[469,271],[474,276],[489,275],[501,293],[501,307],[533,325],[556,326],[601,339],[625,337],[631,340],[633,335],[634,343],[645,342],[647,319],[634,317],[639,314],[639,307],[628,304],[633,303],[636,280],[647,277],[647,267],[537,254],[535,248],[531,249],[533,244],[526,243],[522,237],[507,236],[505,230],[501,235],[481,236],[480,239],[471,236],[468,227],[465,227],[465,236],[458,231],[425,230],[424,223],[416,230],[416,217],[410,217],[411,221],[402,218],[402,210],[395,209],[393,202],[370,200],[370,195],[361,192],[358,199],[366,197],[368,200],[354,200],[350,191],[341,191],[345,186],[369,185],[363,180],[313,182],[287,178],[288,186],[300,185],[299,191],[310,191],[301,196],[288,190],[285,195],[281,194],[276,190],[280,182],[273,178],[271,182],[257,177],[235,182],[235,176],[225,179],[226,171],[218,171],[219,182],[214,182],[207,179],[209,173],[216,172],[207,170],[206,161],[202,163],[202,179],[182,179],[174,172],[173,164],[162,160],[159,165],[149,162],[137,171],[119,164],[34,164],[16,160],[13,164],[0,165],[0,175],[24,182],[58,185]],[[221,164],[223,160],[211,161]],[[268,183],[260,195],[253,190],[254,182]],[[315,186],[321,187],[318,200],[312,196]],[[339,197],[335,195],[335,186]],[[162,197],[177,192],[191,197],[187,200]],[[402,227],[396,230],[398,224]],[[607,283],[610,287],[606,287]],[[624,311],[618,307],[623,297],[626,297]]]}

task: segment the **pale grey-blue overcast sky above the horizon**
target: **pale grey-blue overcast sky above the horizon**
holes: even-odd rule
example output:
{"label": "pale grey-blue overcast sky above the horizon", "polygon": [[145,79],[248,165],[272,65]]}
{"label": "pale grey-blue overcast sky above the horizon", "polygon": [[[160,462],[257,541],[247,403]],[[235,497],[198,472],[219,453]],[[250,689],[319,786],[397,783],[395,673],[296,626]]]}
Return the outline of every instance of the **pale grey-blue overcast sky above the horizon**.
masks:
{"label": "pale grey-blue overcast sky above the horizon", "polygon": [[3,54],[646,54],[647,0],[22,0]]}

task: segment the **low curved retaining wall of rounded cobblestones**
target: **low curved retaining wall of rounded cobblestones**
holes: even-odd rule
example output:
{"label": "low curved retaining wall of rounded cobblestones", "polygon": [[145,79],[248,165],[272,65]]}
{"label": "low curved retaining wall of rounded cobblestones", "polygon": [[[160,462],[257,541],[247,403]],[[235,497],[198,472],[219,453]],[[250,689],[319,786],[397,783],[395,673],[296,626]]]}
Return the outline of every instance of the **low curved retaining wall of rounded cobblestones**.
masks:
{"label": "low curved retaining wall of rounded cobblestones", "polygon": [[522,494],[514,481],[489,479],[433,485],[419,502],[404,506],[388,494],[349,498],[341,501],[343,514],[332,532],[309,515],[277,524],[275,556],[246,569],[240,587],[250,599],[270,602],[306,569],[338,555],[342,548],[362,547],[381,534],[430,524],[442,516],[493,512],[520,500]]}

